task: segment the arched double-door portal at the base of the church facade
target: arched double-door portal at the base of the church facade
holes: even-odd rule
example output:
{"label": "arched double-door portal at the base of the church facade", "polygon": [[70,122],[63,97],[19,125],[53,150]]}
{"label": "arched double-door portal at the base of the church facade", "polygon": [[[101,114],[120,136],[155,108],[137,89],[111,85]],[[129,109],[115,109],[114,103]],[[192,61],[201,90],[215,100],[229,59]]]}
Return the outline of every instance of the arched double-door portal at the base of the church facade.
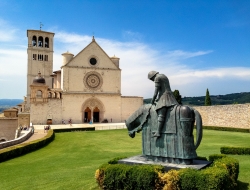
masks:
{"label": "arched double-door portal at the base of the church facade", "polygon": [[104,118],[105,107],[97,98],[89,98],[82,104],[82,121],[102,122]]}

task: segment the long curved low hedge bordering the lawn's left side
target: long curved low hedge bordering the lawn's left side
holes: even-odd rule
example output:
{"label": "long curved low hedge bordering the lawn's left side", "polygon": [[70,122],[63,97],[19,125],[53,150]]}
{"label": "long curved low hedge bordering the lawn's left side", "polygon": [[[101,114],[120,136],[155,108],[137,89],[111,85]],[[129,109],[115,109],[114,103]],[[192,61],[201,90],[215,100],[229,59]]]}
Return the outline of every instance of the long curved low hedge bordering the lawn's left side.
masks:
{"label": "long curved low hedge bordering the lawn's left side", "polygon": [[54,131],[51,129],[47,135],[41,139],[34,140],[28,143],[22,143],[0,150],[0,162],[27,154],[39,148],[46,146],[55,138]]}

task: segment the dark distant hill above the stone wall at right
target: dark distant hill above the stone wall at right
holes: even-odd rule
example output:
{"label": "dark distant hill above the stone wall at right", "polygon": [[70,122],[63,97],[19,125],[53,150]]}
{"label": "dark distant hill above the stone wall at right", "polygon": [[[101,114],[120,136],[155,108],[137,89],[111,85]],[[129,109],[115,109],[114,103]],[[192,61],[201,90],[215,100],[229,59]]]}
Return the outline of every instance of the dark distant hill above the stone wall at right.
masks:
{"label": "dark distant hill above the stone wall at right", "polygon": [[[210,95],[212,105],[245,104],[250,103],[250,92],[232,93],[226,95]],[[183,105],[204,106],[205,96],[184,97]],[[144,99],[144,103],[150,103],[151,98]]]}

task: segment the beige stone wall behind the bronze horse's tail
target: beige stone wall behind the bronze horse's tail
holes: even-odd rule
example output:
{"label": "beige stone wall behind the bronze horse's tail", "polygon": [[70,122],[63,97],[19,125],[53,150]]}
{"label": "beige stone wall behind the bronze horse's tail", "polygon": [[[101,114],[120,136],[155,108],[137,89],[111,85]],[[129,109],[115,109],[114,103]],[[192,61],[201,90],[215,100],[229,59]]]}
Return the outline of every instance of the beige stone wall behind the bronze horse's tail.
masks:
{"label": "beige stone wall behind the bronze horse's tail", "polygon": [[194,106],[204,126],[250,128],[250,104]]}

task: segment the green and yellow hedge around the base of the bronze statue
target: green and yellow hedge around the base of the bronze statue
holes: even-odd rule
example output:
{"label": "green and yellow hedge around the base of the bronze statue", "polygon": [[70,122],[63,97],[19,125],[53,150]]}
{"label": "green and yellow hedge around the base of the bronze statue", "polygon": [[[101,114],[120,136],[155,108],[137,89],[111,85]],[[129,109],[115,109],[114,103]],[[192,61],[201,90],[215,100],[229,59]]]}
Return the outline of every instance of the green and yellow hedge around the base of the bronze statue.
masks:
{"label": "green and yellow hedge around the base of the bronze statue", "polygon": [[[213,164],[202,170],[191,168],[164,171],[159,165],[104,164],[95,178],[101,189],[233,190],[237,188],[238,160],[211,155]],[[116,160],[116,159],[113,159]]]}

